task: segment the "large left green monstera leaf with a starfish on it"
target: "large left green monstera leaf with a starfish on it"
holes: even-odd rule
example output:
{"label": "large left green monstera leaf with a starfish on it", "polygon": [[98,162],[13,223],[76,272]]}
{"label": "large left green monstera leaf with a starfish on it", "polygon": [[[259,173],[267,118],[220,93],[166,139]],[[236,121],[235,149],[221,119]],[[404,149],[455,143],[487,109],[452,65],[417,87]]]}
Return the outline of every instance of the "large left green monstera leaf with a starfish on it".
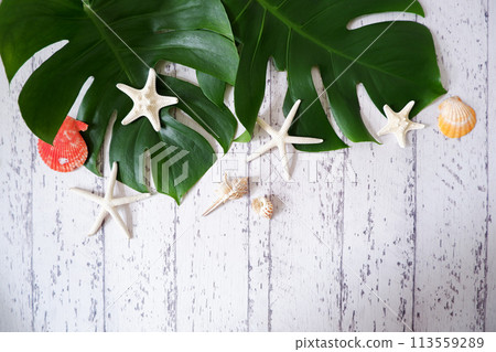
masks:
{"label": "large left green monstera leaf with a starfish on it", "polygon": [[[209,143],[193,129],[162,113],[162,130],[155,132],[145,119],[122,127],[121,119],[132,102],[116,88],[123,83],[141,88],[149,66],[170,61],[201,72],[209,81],[235,83],[238,53],[229,20],[219,0],[3,0],[0,6],[0,55],[9,81],[40,50],[67,43],[28,79],[19,105],[29,128],[52,142],[82,86],[93,77],[78,119],[87,122],[87,168],[98,173],[97,159],[115,110],[109,160],[119,162],[119,180],[145,191],[140,180],[140,156],[157,145],[153,163],[158,191],[180,201],[214,162]],[[237,122],[229,110],[206,98],[188,83],[163,77],[162,94],[177,96],[177,108],[198,122],[227,151]],[[215,86],[219,86],[216,83]],[[175,150],[171,149],[171,147]],[[181,163],[175,166],[174,160]],[[153,157],[153,156],[152,156]],[[187,164],[187,178],[183,175]],[[158,175],[160,170],[170,177]],[[183,177],[184,178],[184,177]],[[174,181],[175,180],[175,181]],[[179,183],[177,183],[179,182]]]}

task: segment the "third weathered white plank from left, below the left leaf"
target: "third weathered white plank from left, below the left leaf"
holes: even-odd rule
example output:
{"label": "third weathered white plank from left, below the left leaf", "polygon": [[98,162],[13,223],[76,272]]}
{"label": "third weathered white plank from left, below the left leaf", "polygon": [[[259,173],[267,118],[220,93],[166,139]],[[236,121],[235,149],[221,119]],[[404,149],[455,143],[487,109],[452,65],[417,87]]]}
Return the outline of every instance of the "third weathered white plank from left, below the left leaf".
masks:
{"label": "third weathered white plank from left, below the left leaf", "polygon": [[[175,74],[174,65],[162,67]],[[109,173],[109,166],[107,174]],[[118,184],[116,194],[134,191]],[[107,331],[175,331],[176,204],[165,195],[121,209],[133,238],[112,221],[105,228]]]}

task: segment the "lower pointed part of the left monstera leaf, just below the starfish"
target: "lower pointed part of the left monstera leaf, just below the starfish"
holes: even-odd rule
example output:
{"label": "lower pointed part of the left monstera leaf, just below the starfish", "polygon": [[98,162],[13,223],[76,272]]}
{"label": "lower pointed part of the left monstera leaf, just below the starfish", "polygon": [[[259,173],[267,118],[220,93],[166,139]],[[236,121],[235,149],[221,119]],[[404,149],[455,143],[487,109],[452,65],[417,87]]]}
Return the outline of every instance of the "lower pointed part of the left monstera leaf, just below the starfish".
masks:
{"label": "lower pointed part of the left monstera leaf, just below the starfish", "polygon": [[[198,87],[174,77],[161,76],[158,93],[180,96],[176,107],[211,132],[225,150],[229,148],[237,122],[226,106],[215,105]],[[119,162],[119,177],[123,183],[147,192],[143,152],[148,150],[157,189],[180,202],[213,166],[215,151],[204,137],[177,122],[168,108],[161,111],[161,125],[162,129],[157,134],[145,118],[128,126],[116,124],[110,161]]]}

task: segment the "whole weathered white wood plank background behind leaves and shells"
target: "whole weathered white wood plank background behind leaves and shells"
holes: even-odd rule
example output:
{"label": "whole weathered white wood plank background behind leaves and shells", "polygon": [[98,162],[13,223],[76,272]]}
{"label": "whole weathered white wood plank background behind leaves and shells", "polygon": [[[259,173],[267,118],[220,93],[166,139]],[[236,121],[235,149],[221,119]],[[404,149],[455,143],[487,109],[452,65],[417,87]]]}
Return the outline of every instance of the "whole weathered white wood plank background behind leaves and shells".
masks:
{"label": "whole weathered white wood plank background behind leaves and shells", "polygon": [[[53,49],[10,88],[2,72],[0,330],[495,331],[496,3],[421,3],[427,19],[402,18],[432,30],[450,95],[477,111],[471,135],[444,138],[433,104],[417,118],[429,127],[407,149],[388,136],[384,146],[300,153],[288,184],[277,153],[247,169],[239,161],[267,139],[260,134],[181,207],[155,196],[123,209],[132,241],[112,221],[85,237],[98,206],[68,189],[103,192],[105,180],[85,169],[52,172],[21,119],[20,88]],[[269,67],[261,116],[273,125],[284,92],[284,74]],[[377,131],[385,119],[359,92]],[[228,169],[252,178],[250,198],[271,195],[271,222],[254,214],[250,198],[200,216]]]}

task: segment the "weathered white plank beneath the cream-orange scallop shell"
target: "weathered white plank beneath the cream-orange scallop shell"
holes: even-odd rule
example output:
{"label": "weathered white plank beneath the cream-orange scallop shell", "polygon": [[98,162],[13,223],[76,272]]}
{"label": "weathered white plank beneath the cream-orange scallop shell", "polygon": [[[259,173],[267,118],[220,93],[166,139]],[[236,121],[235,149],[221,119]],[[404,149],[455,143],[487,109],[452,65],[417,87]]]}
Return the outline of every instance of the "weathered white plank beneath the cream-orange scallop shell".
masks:
{"label": "weathered white plank beneath the cream-orange scallop shell", "polygon": [[[436,127],[436,106],[419,132],[414,328],[484,329],[487,232],[487,2],[425,2],[445,86],[477,113],[473,132],[450,140]],[[456,20],[455,20],[456,19]]]}

